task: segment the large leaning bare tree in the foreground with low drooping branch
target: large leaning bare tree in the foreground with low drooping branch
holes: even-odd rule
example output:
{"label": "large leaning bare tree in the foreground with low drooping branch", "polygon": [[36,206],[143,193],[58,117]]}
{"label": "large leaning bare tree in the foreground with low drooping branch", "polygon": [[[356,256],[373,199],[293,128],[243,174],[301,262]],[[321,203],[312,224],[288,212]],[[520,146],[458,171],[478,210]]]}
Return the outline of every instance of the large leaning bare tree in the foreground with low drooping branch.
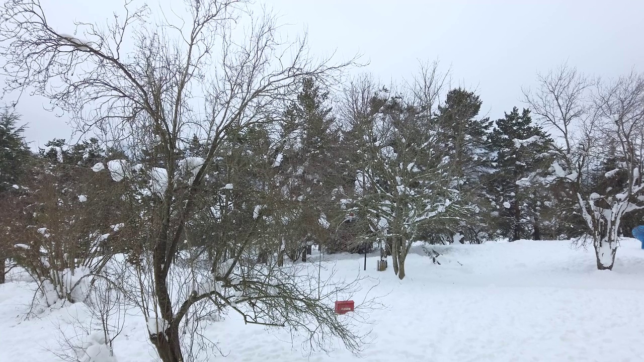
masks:
{"label": "large leaning bare tree in the foreground with low drooping branch", "polygon": [[[249,245],[261,234],[248,233],[223,254],[227,259],[219,256],[205,269],[218,271],[207,275],[210,287],[188,289],[191,269],[178,264],[187,227],[196,211],[207,208],[205,176],[225,142],[270,122],[303,79],[336,81],[352,61],[332,64],[310,57],[305,41],[279,41],[274,18],[254,17],[245,1],[192,0],[186,5],[184,24],[155,24],[147,7],[132,9],[128,2],[125,14],[115,16],[107,30],[77,23],[72,36],[48,23],[39,1],[9,0],[0,15],[5,90],[32,87],[66,111],[79,131],[109,134],[108,140],[121,144],[129,158],[145,159],[134,170],[126,159],[107,166],[115,180],[132,180],[136,195],[126,198],[140,204],[140,224],[131,228],[140,245],[130,256],[137,280],[132,286],[162,361],[184,361],[182,321],[199,303],[216,305],[217,300],[243,314],[247,323],[303,327],[317,342],[323,340],[316,336],[335,334],[355,350],[360,340],[325,305],[330,292],[310,291],[307,277],[290,281],[297,272],[280,271],[285,280],[274,285],[268,278],[273,269],[245,263]],[[250,21],[243,31],[235,26],[240,19]],[[243,35],[246,43],[238,43],[235,35]],[[130,49],[129,39],[134,43]],[[182,157],[190,133],[204,140],[204,157]],[[185,172],[191,173],[189,180],[178,177]],[[230,182],[220,189],[221,195],[234,192]],[[215,282],[235,291],[236,299]],[[250,309],[236,307],[242,301]]]}

